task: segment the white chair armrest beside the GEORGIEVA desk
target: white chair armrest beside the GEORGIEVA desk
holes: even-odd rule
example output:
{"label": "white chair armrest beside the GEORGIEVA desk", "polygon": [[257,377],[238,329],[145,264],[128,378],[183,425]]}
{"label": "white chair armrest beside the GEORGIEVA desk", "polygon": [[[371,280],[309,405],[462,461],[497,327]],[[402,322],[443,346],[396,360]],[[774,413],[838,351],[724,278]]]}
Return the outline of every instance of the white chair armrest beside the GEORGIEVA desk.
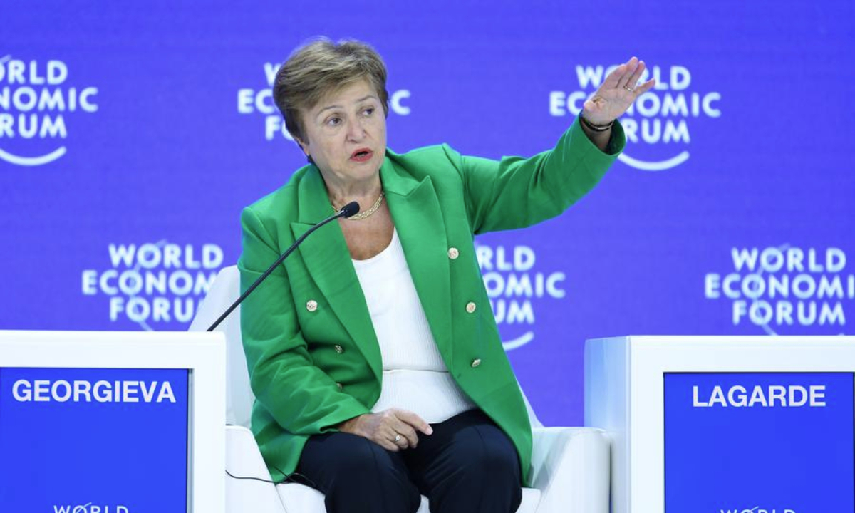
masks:
{"label": "white chair armrest beside the GEORGIEVA desk", "polygon": [[[258,451],[255,437],[243,426],[226,426],[226,513],[284,513],[276,486]],[[237,479],[255,478],[255,479]]]}

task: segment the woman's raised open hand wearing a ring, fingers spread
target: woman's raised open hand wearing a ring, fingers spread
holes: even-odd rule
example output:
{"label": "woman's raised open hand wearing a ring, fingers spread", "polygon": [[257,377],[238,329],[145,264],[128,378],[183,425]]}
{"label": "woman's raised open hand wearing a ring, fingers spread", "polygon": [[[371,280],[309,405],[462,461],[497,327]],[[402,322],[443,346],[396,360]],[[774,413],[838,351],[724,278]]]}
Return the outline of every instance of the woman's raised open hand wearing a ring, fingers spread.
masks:
{"label": "woman's raised open hand wearing a ring, fingers spread", "polygon": [[613,70],[593,97],[585,102],[582,113],[585,119],[594,125],[607,125],[626,112],[635,98],[656,84],[656,80],[651,79],[636,86],[644,70],[644,61],[635,57]]}

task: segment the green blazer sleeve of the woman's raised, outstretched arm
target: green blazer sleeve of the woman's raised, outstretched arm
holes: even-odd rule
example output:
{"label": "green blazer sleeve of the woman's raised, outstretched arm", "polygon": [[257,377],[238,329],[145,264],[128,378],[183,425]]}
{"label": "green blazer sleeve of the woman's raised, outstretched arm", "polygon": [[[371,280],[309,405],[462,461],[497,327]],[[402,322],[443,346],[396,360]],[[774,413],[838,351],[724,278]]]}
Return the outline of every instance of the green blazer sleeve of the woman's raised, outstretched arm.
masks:
{"label": "green blazer sleeve of the woman's raised, outstretched arm", "polygon": [[609,146],[599,150],[577,116],[555,148],[529,158],[460,156],[448,146],[445,152],[462,176],[469,226],[478,234],[528,227],[560,215],[597,185],[625,144],[616,121]]}

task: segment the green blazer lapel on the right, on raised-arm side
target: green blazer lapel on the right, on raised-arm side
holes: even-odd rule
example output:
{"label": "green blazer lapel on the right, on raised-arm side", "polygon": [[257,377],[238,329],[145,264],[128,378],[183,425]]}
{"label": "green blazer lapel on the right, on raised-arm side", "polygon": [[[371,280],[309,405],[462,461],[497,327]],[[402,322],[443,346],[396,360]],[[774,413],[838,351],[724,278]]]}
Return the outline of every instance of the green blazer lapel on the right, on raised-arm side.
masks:
{"label": "green blazer lapel on the right, on raised-arm side", "polygon": [[429,176],[416,180],[388,157],[380,168],[380,180],[433,339],[451,369],[451,270],[433,180]]}

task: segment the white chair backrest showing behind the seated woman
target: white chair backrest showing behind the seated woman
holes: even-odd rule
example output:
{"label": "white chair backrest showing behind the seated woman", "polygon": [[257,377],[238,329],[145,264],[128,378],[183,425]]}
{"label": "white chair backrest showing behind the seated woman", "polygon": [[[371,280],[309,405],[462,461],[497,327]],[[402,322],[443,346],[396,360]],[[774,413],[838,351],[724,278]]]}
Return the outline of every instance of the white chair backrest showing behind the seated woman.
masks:
{"label": "white chair backrest showing behind the seated woman", "polygon": [[[190,331],[204,331],[226,311],[240,296],[240,274],[236,266],[222,268],[211,285],[208,295],[196,311],[190,325]],[[256,396],[250,386],[250,374],[246,367],[244,343],[240,335],[240,307],[236,308],[216,331],[226,333],[226,422],[237,426],[250,427],[252,404]],[[522,392],[522,389],[521,389]],[[532,410],[525,392],[522,399],[526,402],[528,420],[532,428],[542,428]]]}

